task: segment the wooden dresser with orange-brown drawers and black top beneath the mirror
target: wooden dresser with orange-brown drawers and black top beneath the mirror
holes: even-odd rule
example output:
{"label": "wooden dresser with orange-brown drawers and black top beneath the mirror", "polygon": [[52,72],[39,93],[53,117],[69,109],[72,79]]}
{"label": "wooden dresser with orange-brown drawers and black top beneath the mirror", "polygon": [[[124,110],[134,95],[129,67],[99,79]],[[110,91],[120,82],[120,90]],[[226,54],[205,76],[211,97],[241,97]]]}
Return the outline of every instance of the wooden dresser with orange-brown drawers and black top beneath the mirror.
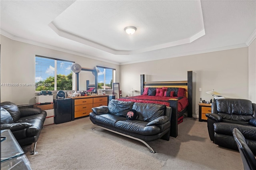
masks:
{"label": "wooden dresser with orange-brown drawers and black top beneath the mirror", "polygon": [[93,107],[107,106],[108,95],[68,97],[72,99],[72,120],[88,116]]}

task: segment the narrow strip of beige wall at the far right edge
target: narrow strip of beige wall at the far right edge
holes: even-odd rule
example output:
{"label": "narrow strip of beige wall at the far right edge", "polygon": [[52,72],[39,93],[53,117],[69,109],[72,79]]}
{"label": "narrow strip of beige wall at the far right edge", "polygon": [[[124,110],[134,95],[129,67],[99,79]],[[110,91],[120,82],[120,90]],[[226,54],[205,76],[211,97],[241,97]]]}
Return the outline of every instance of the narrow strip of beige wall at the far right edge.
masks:
{"label": "narrow strip of beige wall at the far right edge", "polygon": [[256,103],[256,39],[248,47],[249,100]]}

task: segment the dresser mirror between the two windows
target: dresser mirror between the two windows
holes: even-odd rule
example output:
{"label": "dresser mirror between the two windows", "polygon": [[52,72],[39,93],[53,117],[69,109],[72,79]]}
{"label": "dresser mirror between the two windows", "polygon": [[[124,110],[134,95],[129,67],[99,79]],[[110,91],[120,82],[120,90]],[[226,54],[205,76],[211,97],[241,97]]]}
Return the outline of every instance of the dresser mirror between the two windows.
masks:
{"label": "dresser mirror between the two windows", "polygon": [[86,90],[86,91],[92,91],[94,93],[97,93],[97,86],[98,86],[97,74],[98,73],[96,69],[82,68],[79,73],[76,73],[76,91]]}

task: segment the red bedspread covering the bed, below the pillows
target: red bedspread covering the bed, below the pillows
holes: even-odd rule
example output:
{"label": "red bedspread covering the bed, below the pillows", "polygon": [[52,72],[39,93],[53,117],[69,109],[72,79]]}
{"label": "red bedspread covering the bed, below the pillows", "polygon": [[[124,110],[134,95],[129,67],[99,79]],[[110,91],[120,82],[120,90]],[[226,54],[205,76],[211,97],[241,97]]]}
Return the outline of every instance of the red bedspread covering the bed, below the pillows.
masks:
{"label": "red bedspread covering the bed, below the pillows", "polygon": [[139,103],[157,103],[161,105],[170,106],[169,99],[179,99],[178,100],[178,112],[182,111],[188,106],[188,99],[186,97],[162,97],[162,96],[148,96],[140,95],[134,97],[120,98],[120,101],[132,101]]}

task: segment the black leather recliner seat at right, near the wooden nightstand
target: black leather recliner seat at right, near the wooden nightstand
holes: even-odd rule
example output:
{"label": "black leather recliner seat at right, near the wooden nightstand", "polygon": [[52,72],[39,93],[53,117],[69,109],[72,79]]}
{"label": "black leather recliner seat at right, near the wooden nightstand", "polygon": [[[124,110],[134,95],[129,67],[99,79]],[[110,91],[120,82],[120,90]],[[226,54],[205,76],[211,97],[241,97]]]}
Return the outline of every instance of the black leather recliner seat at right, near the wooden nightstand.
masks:
{"label": "black leather recliner seat at right, near the wooden nightstand", "polygon": [[233,129],[237,128],[256,154],[256,104],[246,99],[218,99],[212,103],[207,127],[210,140],[219,146],[238,150]]}

